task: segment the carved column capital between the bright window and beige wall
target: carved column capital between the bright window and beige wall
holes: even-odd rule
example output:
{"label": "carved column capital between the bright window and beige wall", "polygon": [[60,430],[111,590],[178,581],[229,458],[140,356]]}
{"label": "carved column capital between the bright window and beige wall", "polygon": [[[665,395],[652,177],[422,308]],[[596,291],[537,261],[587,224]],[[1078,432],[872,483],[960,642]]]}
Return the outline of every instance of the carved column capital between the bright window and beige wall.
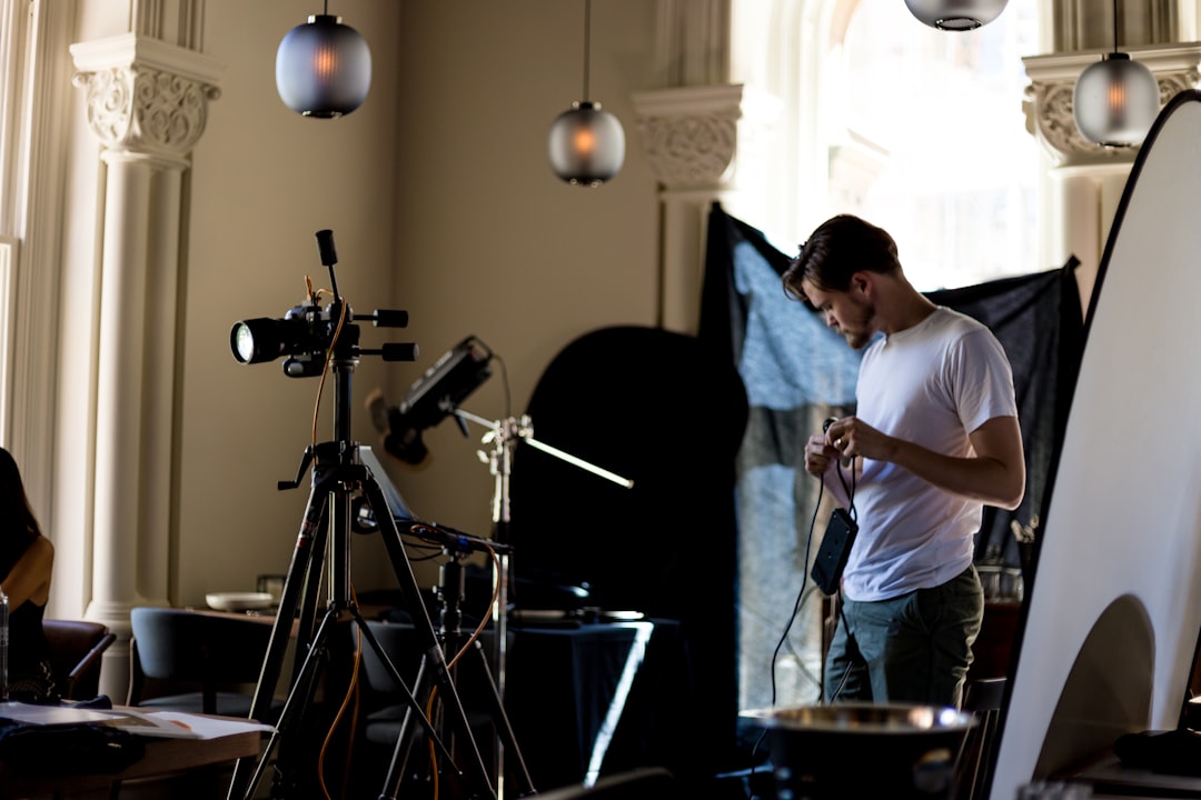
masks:
{"label": "carved column capital between the bright window and beige wall", "polygon": [[712,188],[734,161],[742,86],[682,86],[633,96],[638,130],[659,182]]}

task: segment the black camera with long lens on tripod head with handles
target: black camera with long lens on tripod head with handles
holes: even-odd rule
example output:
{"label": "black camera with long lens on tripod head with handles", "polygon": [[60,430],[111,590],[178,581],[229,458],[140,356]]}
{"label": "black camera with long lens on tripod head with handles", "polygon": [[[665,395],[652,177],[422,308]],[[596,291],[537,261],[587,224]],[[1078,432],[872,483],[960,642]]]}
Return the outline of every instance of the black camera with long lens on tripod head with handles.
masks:
{"label": "black camera with long lens on tripod head with handles", "polygon": [[262,363],[287,356],[283,374],[289,378],[319,375],[327,360],[346,363],[363,355],[380,355],[384,361],[416,361],[418,351],[412,343],[389,343],[377,350],[359,348],[359,326],[353,320],[370,320],[376,327],[406,327],[408,312],[377,308],[371,314],[352,313],[337,293],[333,231],[318,230],[317,246],[333,283],[330,303],[323,307],[319,293],[310,287],[305,302],[288,309],[282,319],[258,317],[234,323],[229,331],[233,357],[239,363]]}

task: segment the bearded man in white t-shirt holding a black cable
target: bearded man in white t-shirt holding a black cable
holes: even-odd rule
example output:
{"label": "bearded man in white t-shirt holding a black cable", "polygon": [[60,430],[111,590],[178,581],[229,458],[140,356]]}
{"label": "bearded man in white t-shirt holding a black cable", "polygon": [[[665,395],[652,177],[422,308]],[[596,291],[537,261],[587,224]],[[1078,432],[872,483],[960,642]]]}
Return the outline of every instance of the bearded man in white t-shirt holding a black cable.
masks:
{"label": "bearded man in white t-shirt holding a black cable", "polygon": [[914,289],[892,237],[858,217],[818,227],[783,281],[864,349],[855,415],[805,447],[859,524],[825,698],[957,706],[984,615],[984,505],[1016,509],[1026,491],[1009,360],[987,327]]}

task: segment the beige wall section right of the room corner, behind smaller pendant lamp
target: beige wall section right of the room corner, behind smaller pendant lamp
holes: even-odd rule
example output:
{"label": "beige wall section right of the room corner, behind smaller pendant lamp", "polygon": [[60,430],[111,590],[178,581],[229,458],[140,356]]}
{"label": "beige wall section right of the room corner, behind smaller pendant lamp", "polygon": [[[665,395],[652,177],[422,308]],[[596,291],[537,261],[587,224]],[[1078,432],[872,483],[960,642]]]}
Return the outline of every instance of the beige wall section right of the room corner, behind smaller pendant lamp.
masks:
{"label": "beige wall section right of the room corner, behind smaller pendant lamp", "polygon": [[[521,414],[576,336],[656,323],[656,185],[629,103],[650,88],[655,6],[592,4],[591,100],[622,120],[627,139],[622,172],[596,190],[562,184],[546,160],[551,121],[581,98],[582,2],[402,6],[395,299],[412,313],[423,366],[468,333],[504,359],[512,409],[497,371],[464,403],[479,416]],[[494,479],[476,456],[480,433],[464,439],[444,421],[426,435],[429,464],[396,471],[418,515],[489,533]]]}

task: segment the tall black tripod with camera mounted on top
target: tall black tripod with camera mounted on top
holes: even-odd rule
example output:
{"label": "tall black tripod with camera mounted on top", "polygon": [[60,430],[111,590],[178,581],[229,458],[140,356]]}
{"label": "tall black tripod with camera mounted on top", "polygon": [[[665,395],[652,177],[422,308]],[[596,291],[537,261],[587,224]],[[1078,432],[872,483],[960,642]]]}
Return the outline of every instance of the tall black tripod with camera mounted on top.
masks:
{"label": "tall black tripod with camera mounted on top", "polygon": [[[337,279],[334,275],[336,255],[333,235],[329,230],[317,233],[322,264],[329,267],[333,283],[334,301],[328,309],[322,309],[310,291],[310,305],[292,309],[283,320],[247,320],[234,325],[231,332],[231,345],[234,356],[244,363],[256,363],[288,354],[285,362],[285,374],[289,377],[313,375],[319,372],[322,361],[333,365],[335,375],[335,439],[323,444],[313,444],[305,450],[304,459],[294,481],[281,482],[280,487],[295,488],[300,485],[304,473],[312,467],[311,491],[309,503],[297,536],[292,564],[283,584],[280,606],[271,637],[268,643],[263,667],[251,703],[250,717],[262,720],[268,715],[275,697],[280,670],[289,639],[295,628],[295,662],[292,670],[292,682],[287,692],[279,721],[268,745],[258,759],[243,758],[234,766],[228,796],[253,796],[259,780],[269,763],[271,753],[279,746],[275,762],[273,798],[304,796],[315,786],[311,775],[301,775],[306,753],[305,724],[313,724],[313,698],[318,686],[322,664],[337,663],[333,650],[337,642],[333,638],[340,622],[352,621],[364,640],[387,667],[396,686],[401,687],[408,715],[416,720],[431,747],[441,758],[447,775],[462,781],[472,798],[495,800],[496,790],[489,778],[479,748],[472,738],[467,724],[467,715],[459,699],[459,693],[447,663],[443,650],[418,589],[412,566],[405,553],[396,523],[388,510],[388,501],[380,483],[360,457],[359,446],[351,439],[351,373],[363,354],[383,355],[386,360],[411,360],[411,348],[389,348],[363,350],[358,345],[358,327],[346,325],[353,319],[349,307],[337,294]],[[336,329],[335,329],[336,318]],[[400,325],[407,323],[404,312],[380,312],[372,319],[376,324]],[[316,437],[315,437],[316,438]],[[423,652],[423,672],[431,672],[431,686],[436,686],[442,697],[443,714],[449,717],[455,734],[465,742],[459,751],[464,753],[466,772],[455,763],[449,748],[435,732],[434,726],[422,714],[417,697],[401,679],[395,664],[388,657],[383,646],[376,639],[366,620],[359,612],[351,591],[351,518],[354,511],[353,499],[362,499],[370,507],[380,527],[388,558],[413,618],[413,630],[418,637],[418,646]],[[327,571],[325,581],[322,579]],[[318,594],[325,585],[325,610],[317,622]],[[299,614],[299,619],[298,618]],[[343,645],[345,646],[345,645]],[[334,681],[331,681],[334,682]],[[432,691],[432,690],[431,690]]]}

